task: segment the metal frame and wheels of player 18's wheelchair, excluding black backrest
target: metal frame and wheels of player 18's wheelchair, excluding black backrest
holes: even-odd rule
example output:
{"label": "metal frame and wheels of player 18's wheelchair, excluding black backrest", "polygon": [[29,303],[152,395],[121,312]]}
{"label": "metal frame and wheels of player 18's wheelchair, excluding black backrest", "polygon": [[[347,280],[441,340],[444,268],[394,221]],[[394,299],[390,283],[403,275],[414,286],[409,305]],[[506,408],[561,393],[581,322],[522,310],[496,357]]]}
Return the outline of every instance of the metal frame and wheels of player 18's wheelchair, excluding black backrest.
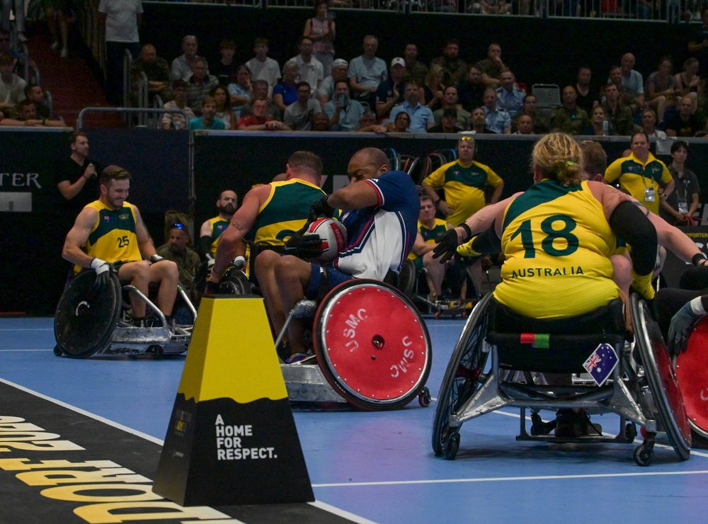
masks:
{"label": "metal frame and wheels of player 18's wheelchair, excluding black backrest", "polygon": [[[611,379],[601,387],[536,385],[530,372],[523,372],[525,383],[517,380],[515,370],[500,365],[497,346],[486,341],[491,300],[490,293],[476,304],[447,366],[433,423],[435,455],[454,459],[459,450],[459,429],[464,422],[506,406],[514,406],[520,408],[520,435],[517,440],[632,443],[636,435],[634,423],[639,423],[646,429],[646,436],[644,443],[634,450],[636,464],[651,464],[657,431],[666,432],[680,460],[688,459],[691,434],[678,383],[658,326],[651,319],[644,301],[637,295],[632,295],[630,309],[635,327],[635,347],[644,363],[644,372],[635,372],[632,348],[620,339],[613,343],[619,363]],[[486,371],[490,354],[491,370]],[[525,429],[527,408],[533,412],[531,434]],[[620,431],[615,437],[557,438],[540,434],[538,411],[561,408],[583,408],[593,413],[614,412],[620,417]],[[627,420],[630,422],[625,426]]]}

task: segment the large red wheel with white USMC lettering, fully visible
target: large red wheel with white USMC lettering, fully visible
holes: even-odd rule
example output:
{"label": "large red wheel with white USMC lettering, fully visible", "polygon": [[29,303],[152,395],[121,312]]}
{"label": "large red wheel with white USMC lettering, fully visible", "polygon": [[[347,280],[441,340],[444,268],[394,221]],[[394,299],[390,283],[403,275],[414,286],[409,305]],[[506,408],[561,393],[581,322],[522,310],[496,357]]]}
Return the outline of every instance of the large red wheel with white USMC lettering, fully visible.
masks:
{"label": "large red wheel with white USMC lettering, fully visible", "polygon": [[398,409],[428,379],[430,336],[413,303],[377,280],[335,287],[315,314],[314,351],[327,382],[353,406]]}

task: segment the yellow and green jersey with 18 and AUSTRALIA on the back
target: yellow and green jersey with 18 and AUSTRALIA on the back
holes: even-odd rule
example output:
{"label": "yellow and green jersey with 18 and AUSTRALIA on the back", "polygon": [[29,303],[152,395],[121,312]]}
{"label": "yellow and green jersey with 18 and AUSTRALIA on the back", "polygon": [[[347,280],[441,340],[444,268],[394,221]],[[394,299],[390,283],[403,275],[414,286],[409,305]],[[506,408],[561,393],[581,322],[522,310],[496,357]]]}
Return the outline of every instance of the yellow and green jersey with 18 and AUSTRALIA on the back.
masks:
{"label": "yellow and green jersey with 18 and AUSTRALIA on the back", "polygon": [[504,212],[506,261],[496,300],[537,319],[574,317],[619,296],[610,255],[615,234],[587,182],[541,181]]}

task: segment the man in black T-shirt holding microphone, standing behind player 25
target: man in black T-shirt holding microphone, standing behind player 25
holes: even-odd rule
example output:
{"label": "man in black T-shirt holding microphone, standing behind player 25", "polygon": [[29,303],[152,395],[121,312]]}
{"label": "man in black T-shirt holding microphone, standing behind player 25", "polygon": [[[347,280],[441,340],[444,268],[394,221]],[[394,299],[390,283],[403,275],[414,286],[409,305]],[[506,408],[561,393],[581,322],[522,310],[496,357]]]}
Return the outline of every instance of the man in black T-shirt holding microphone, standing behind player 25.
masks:
{"label": "man in black T-shirt holding microphone, standing behind player 25", "polygon": [[[1,122],[0,122],[1,124]],[[62,195],[62,209],[70,217],[84,209],[98,196],[98,175],[103,171],[96,159],[89,157],[89,137],[84,132],[69,135],[69,156],[55,166],[55,183]]]}

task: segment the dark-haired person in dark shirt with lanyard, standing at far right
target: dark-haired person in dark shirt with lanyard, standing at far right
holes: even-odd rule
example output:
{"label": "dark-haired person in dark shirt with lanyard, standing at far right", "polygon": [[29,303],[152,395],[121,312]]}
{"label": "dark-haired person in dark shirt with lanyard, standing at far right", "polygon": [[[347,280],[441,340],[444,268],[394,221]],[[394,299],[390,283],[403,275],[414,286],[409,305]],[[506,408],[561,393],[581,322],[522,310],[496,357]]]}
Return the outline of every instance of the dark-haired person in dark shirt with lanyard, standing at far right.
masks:
{"label": "dark-haired person in dark shirt with lanyard, standing at far right", "polygon": [[686,168],[688,144],[678,140],[671,144],[671,158],[668,171],[673,177],[675,189],[666,199],[661,200],[659,209],[661,217],[670,224],[677,226],[690,225],[690,217],[698,210],[701,188],[696,174]]}

